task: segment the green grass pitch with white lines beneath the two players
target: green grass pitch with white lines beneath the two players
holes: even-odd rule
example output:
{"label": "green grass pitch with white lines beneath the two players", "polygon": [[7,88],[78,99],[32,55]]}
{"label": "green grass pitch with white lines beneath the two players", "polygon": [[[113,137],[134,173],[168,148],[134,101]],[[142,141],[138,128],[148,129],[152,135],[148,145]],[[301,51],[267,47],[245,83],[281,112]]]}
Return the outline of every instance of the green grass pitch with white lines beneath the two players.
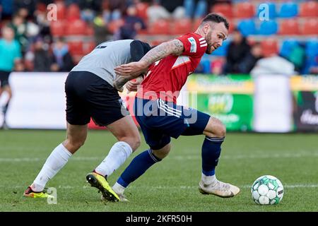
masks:
{"label": "green grass pitch with white lines beneath the two players", "polygon": [[[216,174],[240,186],[234,198],[199,193],[204,136],[180,137],[172,140],[165,160],[126,189],[129,203],[102,203],[85,177],[104,159],[115,138],[107,131],[89,131],[86,144],[47,184],[57,189],[57,204],[23,197],[49,153],[64,138],[65,131],[0,131],[0,211],[318,211],[317,133],[228,133]],[[146,148],[142,141],[125,165],[109,177],[111,185]],[[276,206],[258,206],[252,201],[250,186],[264,174],[283,183],[283,201]]]}

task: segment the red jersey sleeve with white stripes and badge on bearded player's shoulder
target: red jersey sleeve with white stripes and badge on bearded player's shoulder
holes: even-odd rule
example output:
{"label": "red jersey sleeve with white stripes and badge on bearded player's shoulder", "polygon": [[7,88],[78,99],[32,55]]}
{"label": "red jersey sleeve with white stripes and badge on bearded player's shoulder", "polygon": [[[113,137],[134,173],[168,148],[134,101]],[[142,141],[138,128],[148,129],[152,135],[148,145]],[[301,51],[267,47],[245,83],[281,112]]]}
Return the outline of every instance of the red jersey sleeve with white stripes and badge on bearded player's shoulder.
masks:
{"label": "red jersey sleeve with white stripes and badge on bearded player's shoulder", "polygon": [[184,46],[182,55],[190,57],[202,57],[208,46],[204,37],[197,37],[192,33],[177,37],[177,40],[180,40]]}

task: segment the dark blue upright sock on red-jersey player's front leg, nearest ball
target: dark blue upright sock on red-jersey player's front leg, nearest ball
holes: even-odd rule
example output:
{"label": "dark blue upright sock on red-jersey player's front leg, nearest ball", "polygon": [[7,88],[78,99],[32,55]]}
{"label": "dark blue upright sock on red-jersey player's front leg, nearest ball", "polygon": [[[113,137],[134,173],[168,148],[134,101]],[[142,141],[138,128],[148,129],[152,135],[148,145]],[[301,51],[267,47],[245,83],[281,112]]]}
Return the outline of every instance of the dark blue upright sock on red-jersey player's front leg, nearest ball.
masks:
{"label": "dark blue upright sock on red-jersey player's front leg, nearest ball", "polygon": [[218,157],[220,157],[220,145],[224,141],[223,138],[208,137],[204,139],[202,145],[202,172],[206,176],[215,174],[216,165],[218,165]]}

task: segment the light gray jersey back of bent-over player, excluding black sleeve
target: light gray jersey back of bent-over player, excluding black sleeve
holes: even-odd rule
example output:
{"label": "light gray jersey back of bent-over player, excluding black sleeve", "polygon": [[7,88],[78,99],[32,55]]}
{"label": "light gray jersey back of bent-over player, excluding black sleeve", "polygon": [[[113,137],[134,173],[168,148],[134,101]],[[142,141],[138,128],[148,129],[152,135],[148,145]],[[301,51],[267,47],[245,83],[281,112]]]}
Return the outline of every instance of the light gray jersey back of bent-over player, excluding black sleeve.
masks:
{"label": "light gray jersey back of bent-over player, excluding black sleeve", "polygon": [[[89,71],[112,85],[116,73],[114,68],[131,62],[130,43],[134,40],[102,42],[87,54],[71,71]],[[114,85],[112,85],[114,86]]]}

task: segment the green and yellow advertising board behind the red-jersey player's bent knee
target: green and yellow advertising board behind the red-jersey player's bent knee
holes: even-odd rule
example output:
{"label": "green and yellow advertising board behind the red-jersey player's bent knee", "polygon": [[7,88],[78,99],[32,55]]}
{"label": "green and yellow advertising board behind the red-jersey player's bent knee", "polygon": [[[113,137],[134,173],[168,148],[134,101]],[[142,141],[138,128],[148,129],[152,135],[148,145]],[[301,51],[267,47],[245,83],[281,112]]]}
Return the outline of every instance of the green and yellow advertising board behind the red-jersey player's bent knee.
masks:
{"label": "green and yellow advertising board behind the red-jersey player's bent knee", "polygon": [[190,76],[189,103],[225,124],[228,131],[252,131],[254,83],[249,75]]}

